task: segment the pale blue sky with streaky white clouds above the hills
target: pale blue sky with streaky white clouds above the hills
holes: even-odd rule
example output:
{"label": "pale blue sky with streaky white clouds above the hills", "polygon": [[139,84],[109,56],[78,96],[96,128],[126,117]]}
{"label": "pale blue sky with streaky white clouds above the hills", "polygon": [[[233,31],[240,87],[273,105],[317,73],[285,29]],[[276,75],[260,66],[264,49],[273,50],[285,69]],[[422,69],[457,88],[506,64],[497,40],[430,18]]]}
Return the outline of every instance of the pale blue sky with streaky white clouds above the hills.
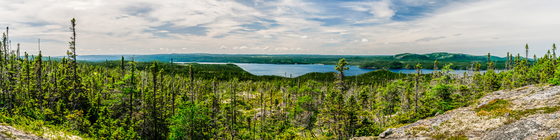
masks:
{"label": "pale blue sky with streaky white clouds above the hills", "polygon": [[[560,1],[0,0],[12,49],[65,55],[464,53],[542,56],[560,43]],[[6,32],[6,31],[2,31]]]}

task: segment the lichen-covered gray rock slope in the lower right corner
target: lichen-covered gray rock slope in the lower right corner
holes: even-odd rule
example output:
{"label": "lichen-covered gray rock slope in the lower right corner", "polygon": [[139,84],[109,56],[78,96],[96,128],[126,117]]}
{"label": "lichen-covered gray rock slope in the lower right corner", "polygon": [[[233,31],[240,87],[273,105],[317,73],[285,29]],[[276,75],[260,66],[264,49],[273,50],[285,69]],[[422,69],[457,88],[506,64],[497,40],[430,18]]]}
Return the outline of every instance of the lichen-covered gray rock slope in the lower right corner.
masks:
{"label": "lichen-covered gray rock slope in the lower right corner", "polygon": [[486,94],[478,104],[358,139],[555,139],[560,86],[525,86]]}

